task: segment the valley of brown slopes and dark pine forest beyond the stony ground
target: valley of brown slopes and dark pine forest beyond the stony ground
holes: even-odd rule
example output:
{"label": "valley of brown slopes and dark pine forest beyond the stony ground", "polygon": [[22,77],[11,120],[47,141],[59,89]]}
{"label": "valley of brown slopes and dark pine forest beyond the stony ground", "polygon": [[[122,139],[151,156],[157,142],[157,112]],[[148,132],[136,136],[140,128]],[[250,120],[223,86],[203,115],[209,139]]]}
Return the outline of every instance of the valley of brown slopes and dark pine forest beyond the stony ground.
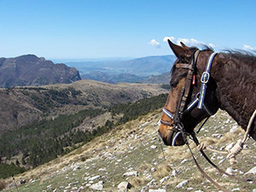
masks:
{"label": "valley of brown slopes and dark pine forest beyond the stony ground", "polygon": [[166,92],[160,84],[88,80],[3,89],[1,162],[26,169],[47,163],[115,125],[160,108]]}

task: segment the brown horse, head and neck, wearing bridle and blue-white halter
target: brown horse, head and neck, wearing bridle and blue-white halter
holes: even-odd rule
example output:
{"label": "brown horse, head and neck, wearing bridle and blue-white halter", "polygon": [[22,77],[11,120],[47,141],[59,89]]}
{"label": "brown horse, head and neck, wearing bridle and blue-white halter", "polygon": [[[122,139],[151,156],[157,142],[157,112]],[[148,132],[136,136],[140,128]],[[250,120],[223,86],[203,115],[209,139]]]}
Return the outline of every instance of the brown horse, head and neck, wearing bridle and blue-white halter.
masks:
{"label": "brown horse, head and neck, wearing bridle and blue-white halter", "polygon": [[[246,130],[256,109],[256,56],[242,50],[214,53],[168,40],[177,60],[171,89],[160,119],[159,134],[168,146],[181,146],[195,126],[222,109]],[[256,141],[256,120],[250,137]],[[185,136],[184,136],[185,135]]]}

